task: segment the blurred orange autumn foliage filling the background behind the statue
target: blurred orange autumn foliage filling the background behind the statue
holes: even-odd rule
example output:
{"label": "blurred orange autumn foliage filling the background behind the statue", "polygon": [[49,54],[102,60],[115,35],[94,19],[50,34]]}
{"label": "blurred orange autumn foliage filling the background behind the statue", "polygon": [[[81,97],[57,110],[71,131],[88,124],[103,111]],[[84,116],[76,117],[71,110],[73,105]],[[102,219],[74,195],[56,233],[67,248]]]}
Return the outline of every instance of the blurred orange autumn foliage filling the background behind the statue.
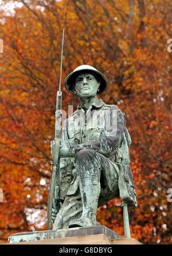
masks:
{"label": "blurred orange autumn foliage filling the background behind the statue", "polygon": [[[9,1],[2,1],[3,4]],[[169,244],[171,228],[171,1],[62,0],[0,9],[0,239],[45,230],[50,140],[60,77],[81,64],[103,72],[101,98],[126,113],[138,208],[129,211],[131,236]],[[62,108],[77,106],[62,86]],[[97,211],[97,221],[124,235],[120,199]]]}

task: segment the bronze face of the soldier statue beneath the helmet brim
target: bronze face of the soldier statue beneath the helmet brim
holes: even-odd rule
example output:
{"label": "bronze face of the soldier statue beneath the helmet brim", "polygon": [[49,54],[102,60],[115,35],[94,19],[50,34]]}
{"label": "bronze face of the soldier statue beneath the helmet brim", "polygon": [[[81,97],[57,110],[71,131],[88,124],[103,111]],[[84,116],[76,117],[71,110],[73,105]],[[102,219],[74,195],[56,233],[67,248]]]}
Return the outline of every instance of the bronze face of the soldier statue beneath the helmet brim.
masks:
{"label": "bronze face of the soldier statue beneath the helmet brim", "polygon": [[78,77],[76,78],[75,88],[77,94],[83,95],[83,97],[96,95],[99,86],[100,83],[92,74],[83,73],[78,75]]}

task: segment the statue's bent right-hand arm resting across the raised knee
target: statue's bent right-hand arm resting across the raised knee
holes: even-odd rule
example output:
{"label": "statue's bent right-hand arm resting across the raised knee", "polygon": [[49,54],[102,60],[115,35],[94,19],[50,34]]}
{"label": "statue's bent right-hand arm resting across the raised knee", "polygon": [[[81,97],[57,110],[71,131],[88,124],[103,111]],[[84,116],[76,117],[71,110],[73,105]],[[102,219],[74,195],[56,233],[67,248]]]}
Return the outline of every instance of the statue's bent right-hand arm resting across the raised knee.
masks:
{"label": "statue's bent right-hand arm resting across the raised knee", "polygon": [[110,155],[118,148],[123,138],[125,120],[122,111],[119,108],[112,108],[108,112],[105,120],[105,131],[97,140],[91,140],[88,143],[73,145],[76,151],[84,148],[95,150],[105,156]]}

